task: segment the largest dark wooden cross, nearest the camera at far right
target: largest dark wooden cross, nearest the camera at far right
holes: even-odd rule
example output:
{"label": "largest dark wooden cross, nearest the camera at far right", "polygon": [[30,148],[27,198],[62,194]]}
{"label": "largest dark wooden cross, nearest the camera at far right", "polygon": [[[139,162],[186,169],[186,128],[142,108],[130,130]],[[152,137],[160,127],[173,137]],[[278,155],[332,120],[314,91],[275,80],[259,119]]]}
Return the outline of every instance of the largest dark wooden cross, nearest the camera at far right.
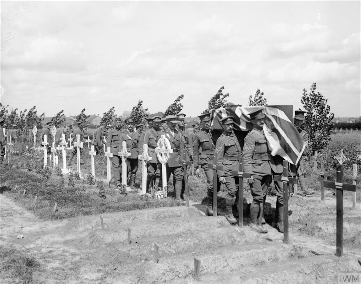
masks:
{"label": "largest dark wooden cross, nearest the camera at far right", "polygon": [[325,181],[326,188],[336,189],[336,256],[342,256],[343,250],[343,191],[356,191],[356,185],[343,184],[343,166],[336,167],[336,182]]}

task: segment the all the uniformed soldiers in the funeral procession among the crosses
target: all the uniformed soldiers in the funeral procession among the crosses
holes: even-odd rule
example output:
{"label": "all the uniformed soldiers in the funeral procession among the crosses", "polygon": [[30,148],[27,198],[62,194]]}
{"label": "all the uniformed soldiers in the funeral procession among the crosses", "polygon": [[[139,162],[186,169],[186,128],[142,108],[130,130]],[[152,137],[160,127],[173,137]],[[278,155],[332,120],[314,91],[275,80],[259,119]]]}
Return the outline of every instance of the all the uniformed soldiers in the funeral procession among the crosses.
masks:
{"label": "all the uniformed soldiers in the funeral procession among the crosses", "polygon": [[[304,111],[295,111],[294,125],[300,133],[300,136],[304,140],[305,150],[303,154],[308,153],[308,135],[304,130],[301,130],[301,125],[305,119]],[[208,164],[213,162],[213,157],[217,154],[217,170],[218,184],[217,191],[219,191],[220,184],[224,184],[227,188],[226,195],[226,219],[235,224],[238,217],[238,193],[239,182],[238,177],[232,175],[232,171],[238,171],[239,160],[243,158],[244,172],[250,173],[251,178],[246,179],[251,188],[251,194],[253,197],[250,206],[250,227],[260,233],[267,233],[267,229],[263,226],[265,220],[263,218],[263,208],[266,201],[266,193],[274,180],[275,175],[282,175],[283,172],[283,158],[276,155],[272,156],[269,149],[268,142],[266,140],[263,126],[265,120],[265,114],[262,111],[258,111],[250,114],[251,123],[253,129],[247,134],[244,141],[235,135],[234,117],[227,116],[220,120],[223,127],[223,132],[217,140],[214,140],[210,134],[210,126],[212,123],[212,113],[206,113],[198,116],[200,123],[193,124],[193,132],[188,131],[185,123],[186,115],[179,113],[176,116],[166,116],[161,118],[155,116],[147,119],[147,125],[143,124],[134,125],[133,118],[127,118],[123,122],[121,118],[115,118],[114,127],[108,130],[108,136],[106,141],[103,139],[105,125],[101,125],[95,132],[92,144],[95,146],[95,150],[98,154],[104,154],[103,144],[110,147],[110,152],[113,154],[112,165],[114,171],[114,180],[117,187],[121,186],[121,156],[118,152],[122,149],[122,142],[126,142],[127,152],[130,156],[126,159],[127,165],[127,179],[130,186],[135,186],[135,175],[138,171],[138,155],[142,154],[143,144],[148,146],[148,155],[152,159],[147,164],[147,192],[151,193],[152,190],[158,190],[161,187],[162,166],[157,157],[155,149],[157,148],[158,140],[162,135],[169,140],[173,153],[169,154],[169,159],[166,164],[166,184],[170,179],[170,175],[173,174],[173,186],[175,191],[175,199],[180,200],[181,203],[185,203],[185,188],[184,188],[184,168],[183,168],[183,153],[186,153],[186,160],[193,162],[195,168],[195,175],[200,177],[200,167],[203,168],[207,178],[207,195],[208,201],[206,206],[206,215],[213,215],[213,170],[208,167]],[[1,127],[4,120],[1,118]],[[78,121],[73,130],[71,126],[65,126],[62,130],[65,133],[66,138],[69,138],[70,133],[73,134],[72,140],[80,135],[80,139],[83,139],[81,126],[84,122]],[[50,147],[52,142],[52,135],[50,132],[51,121],[46,122],[46,129],[43,133],[48,137],[48,151],[50,153]],[[145,128],[144,128],[145,127]],[[135,130],[136,129],[136,130]],[[44,138],[43,138],[44,139]],[[3,137],[3,131],[1,129],[1,163],[3,161],[3,145],[5,140]],[[77,147],[72,149],[68,159],[68,165],[71,165],[71,161],[74,155],[77,153]],[[80,148],[80,154],[84,161],[87,163],[84,150]],[[41,157],[44,159],[44,157]],[[187,167],[186,176],[190,173],[190,167]],[[305,169],[303,166],[303,160],[300,159],[299,164],[290,165],[289,175],[297,176],[301,185],[301,194],[312,194],[312,192],[306,190]],[[283,232],[283,183],[274,181],[275,190],[277,192],[276,210],[273,218],[272,227],[277,228],[280,232]]]}

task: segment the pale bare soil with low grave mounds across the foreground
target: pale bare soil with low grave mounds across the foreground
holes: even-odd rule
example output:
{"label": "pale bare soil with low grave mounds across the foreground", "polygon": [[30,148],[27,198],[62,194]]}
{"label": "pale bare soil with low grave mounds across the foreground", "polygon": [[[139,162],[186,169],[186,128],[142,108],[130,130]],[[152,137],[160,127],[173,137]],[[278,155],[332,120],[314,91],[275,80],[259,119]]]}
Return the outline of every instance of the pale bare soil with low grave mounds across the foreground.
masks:
{"label": "pale bare soil with low grave mounds across the foreground", "polygon": [[[251,198],[247,197],[248,203]],[[1,244],[40,262],[39,283],[338,283],[339,272],[360,273],[360,203],[344,194],[343,256],[336,257],[336,199],[328,191],[292,197],[289,243],[270,226],[275,197],[268,197],[267,234],[206,217],[205,205],[168,207],[62,221],[42,221],[1,194]],[[131,243],[128,244],[130,229]],[[23,238],[18,239],[19,235]],[[159,258],[154,257],[154,243]],[[11,283],[1,273],[1,283]]]}

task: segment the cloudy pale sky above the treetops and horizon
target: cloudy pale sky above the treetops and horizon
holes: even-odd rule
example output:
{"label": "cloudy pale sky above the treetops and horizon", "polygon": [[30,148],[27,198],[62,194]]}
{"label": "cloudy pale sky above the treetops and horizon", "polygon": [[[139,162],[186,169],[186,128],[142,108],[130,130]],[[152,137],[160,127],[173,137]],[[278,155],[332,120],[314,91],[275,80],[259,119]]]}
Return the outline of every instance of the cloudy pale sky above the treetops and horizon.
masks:
{"label": "cloudy pale sky above the treetops and horizon", "polygon": [[181,94],[198,116],[228,102],[361,113],[361,1],[3,1],[1,103],[66,116],[86,108],[164,112]]}

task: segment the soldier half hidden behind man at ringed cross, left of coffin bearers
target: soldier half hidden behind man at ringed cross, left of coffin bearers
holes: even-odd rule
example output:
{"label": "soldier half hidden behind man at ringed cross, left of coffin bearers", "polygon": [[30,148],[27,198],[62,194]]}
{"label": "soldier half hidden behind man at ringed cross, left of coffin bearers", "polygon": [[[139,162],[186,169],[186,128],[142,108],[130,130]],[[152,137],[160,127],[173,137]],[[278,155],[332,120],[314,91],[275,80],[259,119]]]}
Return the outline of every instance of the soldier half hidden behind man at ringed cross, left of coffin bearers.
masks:
{"label": "soldier half hidden behind man at ringed cross, left of coffin bearers", "polygon": [[[183,139],[183,143],[185,146],[184,149],[186,149],[186,161],[193,161],[193,140],[192,140],[192,137],[190,136],[190,131],[188,131],[186,124],[185,124],[186,115],[184,113],[178,113],[176,116],[178,117],[177,118],[178,123],[177,123],[176,129],[179,132],[181,132],[181,134],[182,134],[182,139]],[[181,156],[183,157],[183,152],[181,153]],[[190,171],[191,171],[191,167],[187,166],[187,178],[190,174]],[[175,186],[174,179],[173,179],[173,186]],[[185,183],[184,183],[184,176],[183,176],[181,196],[185,200],[185,197],[183,196],[184,190],[185,190]]]}

